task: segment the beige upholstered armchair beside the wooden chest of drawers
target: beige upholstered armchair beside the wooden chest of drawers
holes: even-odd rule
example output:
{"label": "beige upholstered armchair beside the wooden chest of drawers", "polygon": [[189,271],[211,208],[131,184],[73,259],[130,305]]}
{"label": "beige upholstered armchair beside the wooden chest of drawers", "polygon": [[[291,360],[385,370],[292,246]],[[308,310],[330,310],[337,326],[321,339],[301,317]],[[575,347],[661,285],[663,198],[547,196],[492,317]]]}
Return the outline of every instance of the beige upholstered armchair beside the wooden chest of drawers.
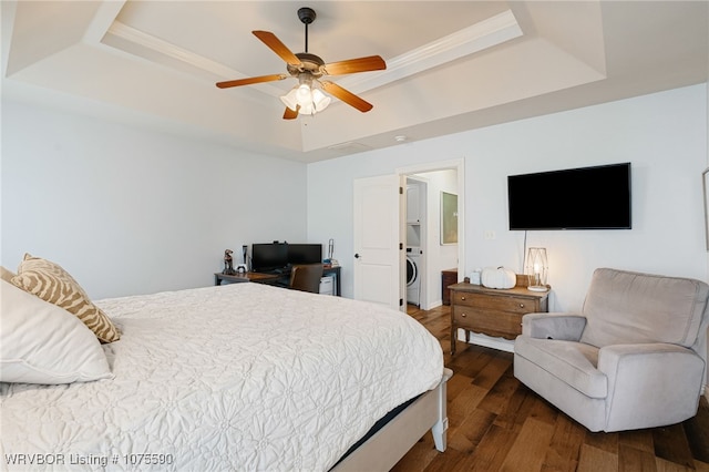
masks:
{"label": "beige upholstered armchair beside the wooden chest of drawers", "polygon": [[700,280],[594,271],[580,314],[530,314],[514,376],[590,431],[675,424],[697,414],[707,361]]}

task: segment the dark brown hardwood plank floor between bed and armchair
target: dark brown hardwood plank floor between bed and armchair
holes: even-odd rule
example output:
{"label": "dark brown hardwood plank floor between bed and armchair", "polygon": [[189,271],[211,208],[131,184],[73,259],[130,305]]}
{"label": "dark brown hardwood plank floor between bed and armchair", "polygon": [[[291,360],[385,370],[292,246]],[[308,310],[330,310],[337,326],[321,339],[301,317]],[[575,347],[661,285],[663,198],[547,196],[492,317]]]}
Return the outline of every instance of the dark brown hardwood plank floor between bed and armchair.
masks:
{"label": "dark brown hardwood plank floor between bed and armchair", "polygon": [[709,472],[705,397],[697,417],[681,424],[592,433],[515,379],[512,353],[459,342],[451,357],[449,309],[409,309],[441,341],[454,372],[448,449],[438,452],[429,432],[392,471]]}

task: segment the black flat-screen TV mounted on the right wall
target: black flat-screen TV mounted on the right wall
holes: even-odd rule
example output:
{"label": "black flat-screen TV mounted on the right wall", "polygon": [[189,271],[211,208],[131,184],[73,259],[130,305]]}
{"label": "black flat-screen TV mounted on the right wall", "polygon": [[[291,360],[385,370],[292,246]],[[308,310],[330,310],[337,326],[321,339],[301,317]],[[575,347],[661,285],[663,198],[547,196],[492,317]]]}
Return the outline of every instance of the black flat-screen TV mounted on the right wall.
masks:
{"label": "black flat-screen TV mounted on the right wall", "polygon": [[630,163],[507,176],[510,229],[630,229]]}

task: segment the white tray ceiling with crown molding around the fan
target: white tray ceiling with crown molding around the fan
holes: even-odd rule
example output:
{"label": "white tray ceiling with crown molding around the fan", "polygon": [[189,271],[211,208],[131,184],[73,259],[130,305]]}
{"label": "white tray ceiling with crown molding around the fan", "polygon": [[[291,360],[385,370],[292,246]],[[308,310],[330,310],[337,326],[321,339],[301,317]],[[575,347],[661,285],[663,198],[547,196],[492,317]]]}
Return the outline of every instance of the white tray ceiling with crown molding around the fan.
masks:
{"label": "white tray ceiling with crown molding around the fan", "polygon": [[[707,1],[8,1],[3,100],[208,137],[300,162],[707,81]],[[386,71],[329,78],[374,105],[335,99],[282,120],[296,81],[251,34],[308,52],[379,54]]]}

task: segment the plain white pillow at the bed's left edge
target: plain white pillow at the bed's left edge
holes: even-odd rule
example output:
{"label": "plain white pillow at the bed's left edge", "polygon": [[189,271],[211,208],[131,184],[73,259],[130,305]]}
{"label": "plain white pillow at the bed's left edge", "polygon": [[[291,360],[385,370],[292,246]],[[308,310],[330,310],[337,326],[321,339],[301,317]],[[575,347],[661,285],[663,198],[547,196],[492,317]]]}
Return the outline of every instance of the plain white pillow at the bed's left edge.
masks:
{"label": "plain white pillow at the bed's left edge", "polygon": [[79,318],[0,283],[0,381],[72,383],[113,378],[99,339]]}

